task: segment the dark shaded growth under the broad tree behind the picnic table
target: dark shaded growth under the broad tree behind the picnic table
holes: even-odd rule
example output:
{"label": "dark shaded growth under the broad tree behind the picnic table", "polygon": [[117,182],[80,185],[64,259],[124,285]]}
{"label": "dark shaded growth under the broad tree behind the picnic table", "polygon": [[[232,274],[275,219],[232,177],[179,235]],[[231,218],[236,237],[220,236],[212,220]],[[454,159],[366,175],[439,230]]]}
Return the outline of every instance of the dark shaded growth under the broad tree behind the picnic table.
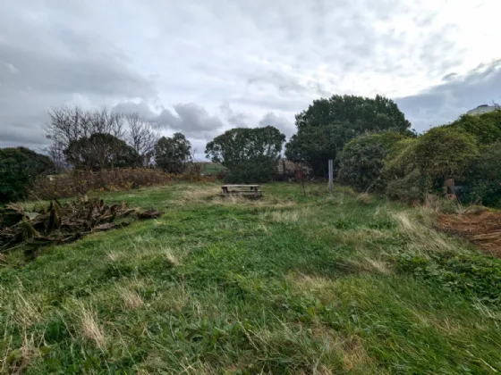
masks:
{"label": "dark shaded growth under the broad tree behind the picnic table", "polygon": [[275,174],[275,161],[241,162],[232,166],[225,176],[230,184],[252,184],[270,181]]}

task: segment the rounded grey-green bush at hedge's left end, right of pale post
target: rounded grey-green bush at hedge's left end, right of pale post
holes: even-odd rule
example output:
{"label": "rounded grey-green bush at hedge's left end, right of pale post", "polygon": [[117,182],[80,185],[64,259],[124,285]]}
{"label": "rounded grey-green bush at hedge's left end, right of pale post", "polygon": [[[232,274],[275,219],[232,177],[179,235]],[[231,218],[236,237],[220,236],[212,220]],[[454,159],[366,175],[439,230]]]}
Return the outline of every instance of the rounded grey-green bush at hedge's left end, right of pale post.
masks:
{"label": "rounded grey-green bush at hedge's left end, right of pale post", "polygon": [[395,132],[365,134],[344,146],[340,157],[339,181],[357,190],[382,191],[384,160],[403,135]]}

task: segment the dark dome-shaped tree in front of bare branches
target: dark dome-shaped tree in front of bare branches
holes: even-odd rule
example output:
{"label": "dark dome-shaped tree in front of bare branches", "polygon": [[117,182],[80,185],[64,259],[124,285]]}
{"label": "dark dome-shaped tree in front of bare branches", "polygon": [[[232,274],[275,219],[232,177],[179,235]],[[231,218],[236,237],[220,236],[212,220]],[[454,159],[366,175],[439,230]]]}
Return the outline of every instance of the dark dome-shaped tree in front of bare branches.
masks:
{"label": "dark dome-shaped tree in front of bare branches", "polygon": [[66,162],[74,168],[89,171],[127,168],[140,163],[140,155],[132,146],[106,133],[95,133],[71,141],[64,155]]}

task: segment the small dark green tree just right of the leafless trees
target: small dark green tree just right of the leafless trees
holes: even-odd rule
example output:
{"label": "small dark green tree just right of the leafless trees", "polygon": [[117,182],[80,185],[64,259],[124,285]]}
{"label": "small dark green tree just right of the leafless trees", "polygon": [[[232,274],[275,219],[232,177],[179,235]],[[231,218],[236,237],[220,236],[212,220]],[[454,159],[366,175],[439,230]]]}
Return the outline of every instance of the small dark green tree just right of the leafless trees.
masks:
{"label": "small dark green tree just right of the leafless trees", "polygon": [[191,143],[183,133],[174,133],[173,137],[158,139],[154,154],[158,168],[169,173],[181,173],[191,159]]}

